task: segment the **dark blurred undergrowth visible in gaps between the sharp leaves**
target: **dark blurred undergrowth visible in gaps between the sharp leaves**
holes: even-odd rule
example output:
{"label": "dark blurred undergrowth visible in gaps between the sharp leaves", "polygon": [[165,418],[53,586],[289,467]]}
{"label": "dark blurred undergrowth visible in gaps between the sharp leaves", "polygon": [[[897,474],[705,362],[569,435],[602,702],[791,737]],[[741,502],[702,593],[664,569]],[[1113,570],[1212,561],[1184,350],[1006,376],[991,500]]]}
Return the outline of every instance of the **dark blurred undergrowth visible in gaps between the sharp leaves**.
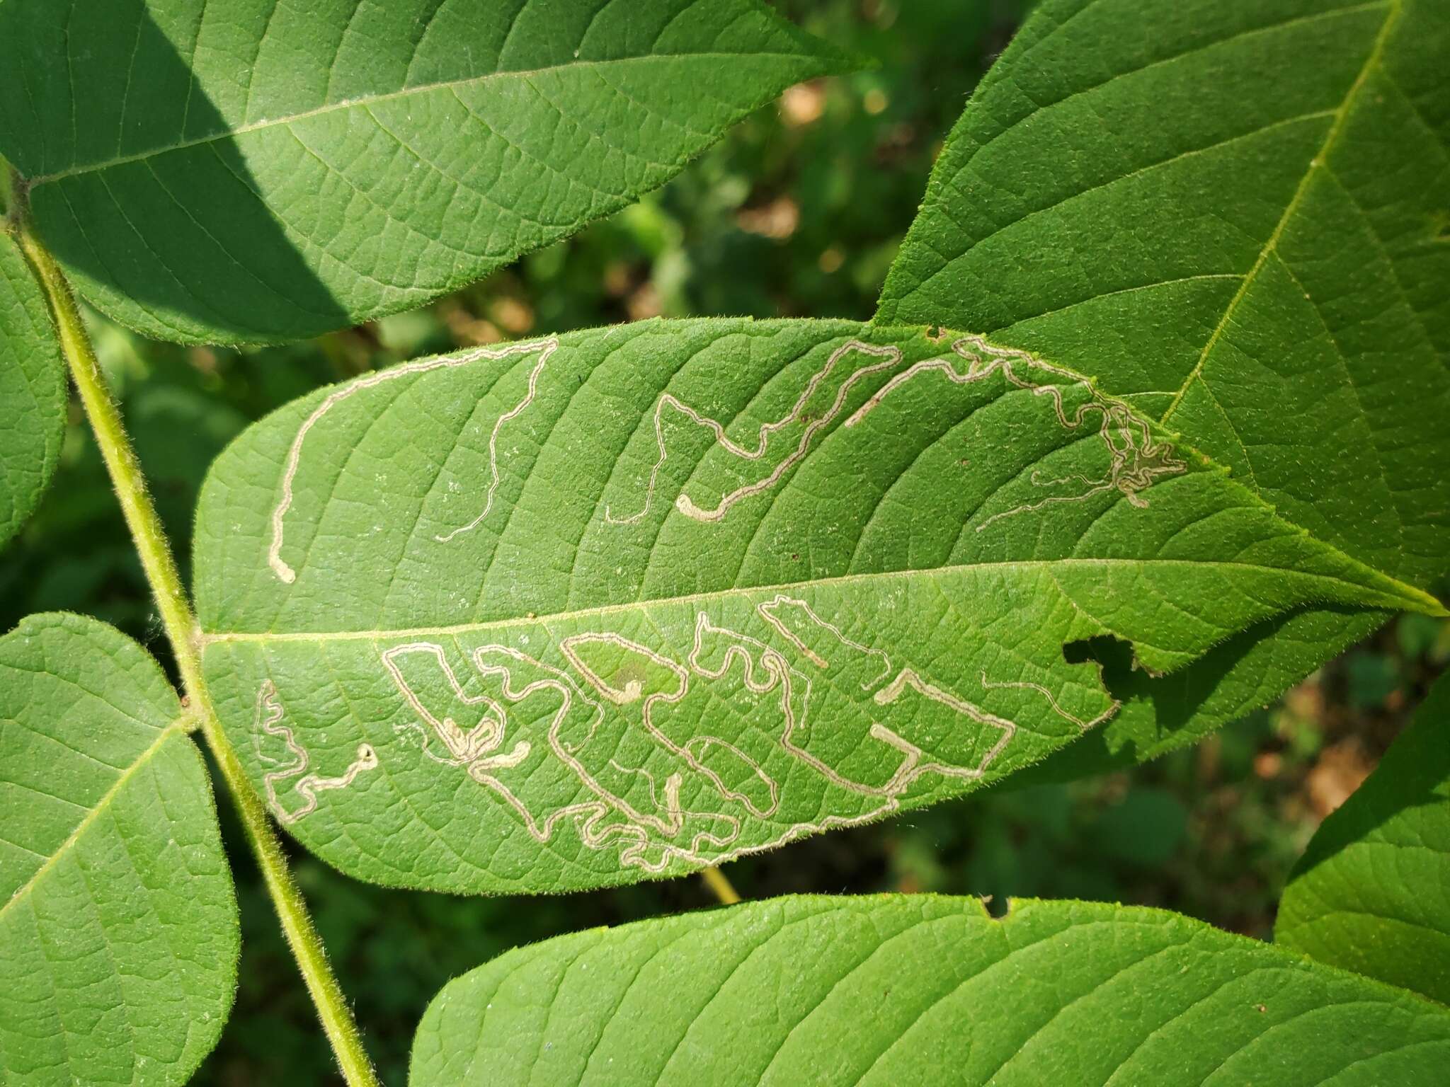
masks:
{"label": "dark blurred undergrowth visible in gaps between the sharp leaves", "polygon": [[[1031,0],[777,0],[877,58],[795,87],[680,178],[568,242],[442,301],[287,348],[154,343],[103,320],[97,351],[187,565],[207,465],[246,423],[323,383],[418,355],[655,315],[871,315],[961,106]],[[44,507],[0,557],[0,629],[65,609],[167,659],[160,622],[78,410]],[[1164,906],[1267,936],[1318,822],[1341,803],[1450,661],[1450,626],[1406,616],[1211,741],[1132,774],[992,791],[748,858],[747,897],[944,891]],[[197,1083],[338,1081],[229,807],[244,952],[236,1010]],[[344,988],[387,1083],[406,1078],[423,1006],[522,942],[713,901],[697,880],[547,899],[464,899],[354,883],[294,852]]]}

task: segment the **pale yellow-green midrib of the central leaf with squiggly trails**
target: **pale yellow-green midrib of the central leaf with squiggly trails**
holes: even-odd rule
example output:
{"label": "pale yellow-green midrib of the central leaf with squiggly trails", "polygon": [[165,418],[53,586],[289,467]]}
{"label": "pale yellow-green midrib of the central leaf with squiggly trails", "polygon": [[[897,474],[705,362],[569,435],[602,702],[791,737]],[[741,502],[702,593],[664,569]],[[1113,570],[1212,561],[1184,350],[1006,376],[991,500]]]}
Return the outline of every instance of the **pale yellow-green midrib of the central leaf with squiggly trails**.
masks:
{"label": "pale yellow-green midrib of the central leaf with squiggly trails", "polygon": [[218,642],[319,642],[319,641],[371,641],[383,638],[412,638],[420,635],[439,635],[450,636],[455,633],[471,633],[474,630],[490,630],[506,626],[516,626],[519,623],[550,623],[570,619],[584,619],[602,615],[618,615],[624,612],[632,612],[642,607],[666,607],[670,604],[690,604],[702,600],[718,600],[724,596],[741,594],[741,593],[776,593],[786,590],[805,590],[805,588],[819,588],[826,586],[842,586],[856,584],[863,581],[880,581],[893,578],[912,578],[912,577],[940,577],[944,574],[960,574],[972,570],[1044,570],[1051,572],[1053,570],[1060,570],[1061,567],[1148,567],[1148,565],[1183,565],[1193,568],[1217,568],[1217,567],[1231,567],[1234,570],[1250,570],[1264,574],[1277,574],[1289,577],[1302,577],[1317,581],[1330,581],[1343,586],[1356,586],[1366,591],[1379,591],[1385,596],[1391,594],[1391,590],[1396,590],[1402,597],[1402,606],[1409,610],[1422,610],[1427,615],[1446,615],[1446,609],[1440,601],[1425,593],[1424,590],[1415,588],[1414,586],[1398,581],[1396,578],[1382,574],[1373,567],[1367,567],[1357,559],[1351,559],[1347,555],[1340,554],[1346,561],[1354,562],[1362,567],[1370,575],[1380,578],[1385,584],[1383,588],[1373,588],[1364,586],[1363,583],[1348,581],[1346,578],[1334,577],[1333,574],[1314,574],[1304,570],[1289,570],[1285,567],[1269,567],[1259,562],[1237,562],[1227,559],[1192,559],[1192,558],[1044,558],[1044,559],[1011,559],[1002,562],[963,562],[950,567],[931,567],[927,570],[883,570],[866,574],[840,574],[837,577],[821,577],[811,578],[806,581],[779,581],[761,586],[731,586],[729,588],[716,588],[708,593],[686,593],[682,596],[670,597],[654,597],[650,600],[631,600],[621,604],[600,604],[597,607],[580,607],[566,612],[550,612],[544,615],[526,615],[526,616],[512,616],[508,619],[487,619],[476,623],[454,623],[448,626],[410,626],[410,628],[390,628],[390,629],[368,629],[368,630],[202,630],[197,635],[197,641],[204,648]]}

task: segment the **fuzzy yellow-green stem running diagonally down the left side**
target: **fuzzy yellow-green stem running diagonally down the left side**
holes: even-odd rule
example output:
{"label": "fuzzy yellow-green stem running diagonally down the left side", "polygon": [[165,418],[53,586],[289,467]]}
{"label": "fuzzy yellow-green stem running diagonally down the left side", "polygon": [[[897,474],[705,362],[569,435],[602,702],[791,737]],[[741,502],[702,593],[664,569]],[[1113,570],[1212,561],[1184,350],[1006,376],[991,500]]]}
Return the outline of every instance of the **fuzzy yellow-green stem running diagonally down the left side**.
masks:
{"label": "fuzzy yellow-green stem running diagonally down the left side", "polygon": [[30,259],[49,299],[71,377],[86,409],[86,417],[96,432],[96,443],[106,459],[106,470],[116,487],[126,525],[136,542],[136,551],[141,554],[141,565],[145,568],[157,607],[161,610],[167,638],[175,652],[187,703],[200,723],[206,745],[216,758],[216,765],[220,768],[226,788],[236,804],[246,841],[261,868],[262,880],[268,894],[271,894],[273,906],[277,909],[297,968],[307,984],[307,993],[318,1009],[322,1029],[332,1044],[332,1051],[336,1054],[348,1084],[351,1087],[378,1087],[377,1074],[373,1071],[367,1049],[362,1046],[357,1022],[352,1019],[338,978],[328,964],[322,939],[307,913],[302,891],[287,868],[287,858],[283,855],[281,844],[267,817],[267,810],[262,807],[257,790],[246,780],[241,759],[236,757],[236,748],[232,746],[216,719],[206,681],[202,677],[202,658],[197,652],[196,638],[197,623],[187,603],[186,591],[181,588],[181,577],[177,572],[175,559],[171,557],[170,541],[161,528],[161,519],[151,503],[151,496],[146,493],[141,462],[130,446],[130,436],[126,433],[120,412],[106,386],[106,377],[96,361],[96,352],[75,307],[70,283],[51,254],[23,223],[19,238],[22,249]]}

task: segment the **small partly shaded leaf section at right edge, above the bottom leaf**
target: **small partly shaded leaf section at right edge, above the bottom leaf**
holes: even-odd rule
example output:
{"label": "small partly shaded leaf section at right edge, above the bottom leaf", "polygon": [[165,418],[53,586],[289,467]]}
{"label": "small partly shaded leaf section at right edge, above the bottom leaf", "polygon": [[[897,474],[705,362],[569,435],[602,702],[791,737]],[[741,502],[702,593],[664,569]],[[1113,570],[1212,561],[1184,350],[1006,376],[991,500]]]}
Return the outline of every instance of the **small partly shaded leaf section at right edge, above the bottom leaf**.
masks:
{"label": "small partly shaded leaf section at right edge, above the bottom leaf", "polygon": [[1275,941],[1450,1004],[1450,677],[1309,842]]}

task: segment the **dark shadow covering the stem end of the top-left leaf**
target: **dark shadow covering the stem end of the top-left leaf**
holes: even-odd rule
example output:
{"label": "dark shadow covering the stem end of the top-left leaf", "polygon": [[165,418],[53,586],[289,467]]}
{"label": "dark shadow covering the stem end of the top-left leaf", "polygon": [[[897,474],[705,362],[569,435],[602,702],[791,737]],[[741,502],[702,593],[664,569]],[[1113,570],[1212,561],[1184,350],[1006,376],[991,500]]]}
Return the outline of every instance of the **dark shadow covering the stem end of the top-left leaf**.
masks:
{"label": "dark shadow covering the stem end of the top-left leaf", "polygon": [[0,4],[0,149],[28,178],[41,238],[99,309],[184,342],[351,323],[142,0]]}

